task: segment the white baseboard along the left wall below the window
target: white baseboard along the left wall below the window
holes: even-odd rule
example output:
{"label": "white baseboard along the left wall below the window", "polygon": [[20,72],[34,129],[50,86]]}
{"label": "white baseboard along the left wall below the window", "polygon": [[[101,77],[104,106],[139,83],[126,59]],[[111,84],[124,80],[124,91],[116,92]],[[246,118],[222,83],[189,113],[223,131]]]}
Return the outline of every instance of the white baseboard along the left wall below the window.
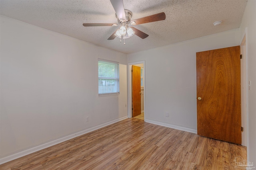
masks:
{"label": "white baseboard along the left wall below the window", "polygon": [[51,142],[48,142],[48,143],[44,143],[44,144],[39,145],[39,146],[34,147],[34,148],[30,148],[30,149],[27,149],[27,150],[23,150],[23,151],[21,151],[21,152],[18,152],[18,153],[16,153],[16,154],[12,154],[12,155],[10,155],[10,156],[6,156],[6,157],[4,157],[4,158],[0,158],[0,165],[1,165],[1,164],[4,164],[4,163],[6,163],[6,162],[9,162],[9,161],[11,161],[11,160],[20,158],[20,157],[22,157],[22,156],[26,156],[26,155],[28,155],[28,154],[37,152],[38,150],[42,150],[42,149],[51,147],[51,146],[53,146],[53,145],[56,145],[56,144],[58,144],[58,143],[62,143],[62,142],[64,142],[64,141],[68,141],[68,140],[70,140],[70,139],[73,139],[73,138],[78,137],[78,136],[80,136],[80,135],[84,135],[84,134],[89,133],[89,132],[91,132],[91,131],[95,131],[95,130],[100,129],[100,128],[102,128],[102,127],[105,127],[105,126],[111,125],[111,124],[113,124],[113,123],[116,123],[116,122],[118,122],[118,121],[124,120],[124,119],[126,119],[126,118],[128,118],[128,117],[127,117],[127,116],[124,116],[124,117],[121,117],[121,118],[119,118],[119,119],[115,119],[115,120],[113,120],[113,121],[109,121],[109,122],[107,122],[107,123],[103,123],[102,125],[98,125],[98,126],[95,126],[95,127],[90,128],[90,129],[86,129],[86,130],[84,130],[84,131],[80,131],[80,132],[74,133],[74,134],[72,134],[72,135],[68,135],[68,136],[66,136],[66,137],[62,137],[62,138],[60,138],[60,139],[56,139],[56,140],[51,141]]}

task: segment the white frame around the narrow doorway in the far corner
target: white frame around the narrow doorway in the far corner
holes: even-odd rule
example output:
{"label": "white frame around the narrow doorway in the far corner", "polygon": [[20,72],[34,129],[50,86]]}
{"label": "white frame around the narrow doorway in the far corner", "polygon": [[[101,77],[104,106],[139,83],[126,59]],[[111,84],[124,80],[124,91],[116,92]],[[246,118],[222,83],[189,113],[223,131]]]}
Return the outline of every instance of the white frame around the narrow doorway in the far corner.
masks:
{"label": "white frame around the narrow doorway in the far corner", "polygon": [[132,65],[136,65],[136,64],[143,64],[143,74],[144,74],[144,121],[146,120],[146,74],[145,74],[145,70],[146,70],[146,66],[145,66],[145,61],[137,61],[137,62],[133,62],[133,63],[128,63],[128,67],[127,67],[127,79],[128,79],[128,92],[127,92],[127,97],[128,97],[128,104],[127,104],[127,117],[131,118],[132,117]]}

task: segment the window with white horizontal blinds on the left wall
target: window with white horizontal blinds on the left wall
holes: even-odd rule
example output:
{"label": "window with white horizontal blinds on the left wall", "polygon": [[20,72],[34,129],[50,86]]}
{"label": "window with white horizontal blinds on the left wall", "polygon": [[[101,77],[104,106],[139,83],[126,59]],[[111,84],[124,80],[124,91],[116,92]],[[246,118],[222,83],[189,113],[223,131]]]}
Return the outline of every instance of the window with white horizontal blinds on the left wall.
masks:
{"label": "window with white horizontal blinds on the left wall", "polygon": [[98,59],[99,96],[119,94],[119,63]]}

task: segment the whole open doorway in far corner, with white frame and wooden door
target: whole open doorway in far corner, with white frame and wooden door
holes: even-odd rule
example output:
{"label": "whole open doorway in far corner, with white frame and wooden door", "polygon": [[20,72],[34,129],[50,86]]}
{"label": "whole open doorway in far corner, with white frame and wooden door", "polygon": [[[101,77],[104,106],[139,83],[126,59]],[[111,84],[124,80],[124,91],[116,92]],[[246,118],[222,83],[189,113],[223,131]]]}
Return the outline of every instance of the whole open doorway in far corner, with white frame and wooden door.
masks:
{"label": "whole open doorway in far corner, with white frame and wooden door", "polygon": [[[135,72],[136,74],[133,74]],[[133,76],[136,76],[136,79]],[[134,81],[135,80],[135,81]],[[145,61],[128,63],[128,117],[146,119]],[[134,89],[135,87],[135,89]]]}

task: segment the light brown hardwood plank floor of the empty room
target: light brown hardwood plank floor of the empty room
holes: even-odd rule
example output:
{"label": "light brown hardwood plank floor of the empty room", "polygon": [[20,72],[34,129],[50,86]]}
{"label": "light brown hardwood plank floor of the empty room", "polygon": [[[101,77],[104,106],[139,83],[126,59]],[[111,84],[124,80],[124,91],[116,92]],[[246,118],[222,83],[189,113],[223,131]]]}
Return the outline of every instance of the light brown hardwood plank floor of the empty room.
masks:
{"label": "light brown hardwood plank floor of the empty room", "polygon": [[0,165],[1,170],[238,170],[246,147],[125,119]]}

